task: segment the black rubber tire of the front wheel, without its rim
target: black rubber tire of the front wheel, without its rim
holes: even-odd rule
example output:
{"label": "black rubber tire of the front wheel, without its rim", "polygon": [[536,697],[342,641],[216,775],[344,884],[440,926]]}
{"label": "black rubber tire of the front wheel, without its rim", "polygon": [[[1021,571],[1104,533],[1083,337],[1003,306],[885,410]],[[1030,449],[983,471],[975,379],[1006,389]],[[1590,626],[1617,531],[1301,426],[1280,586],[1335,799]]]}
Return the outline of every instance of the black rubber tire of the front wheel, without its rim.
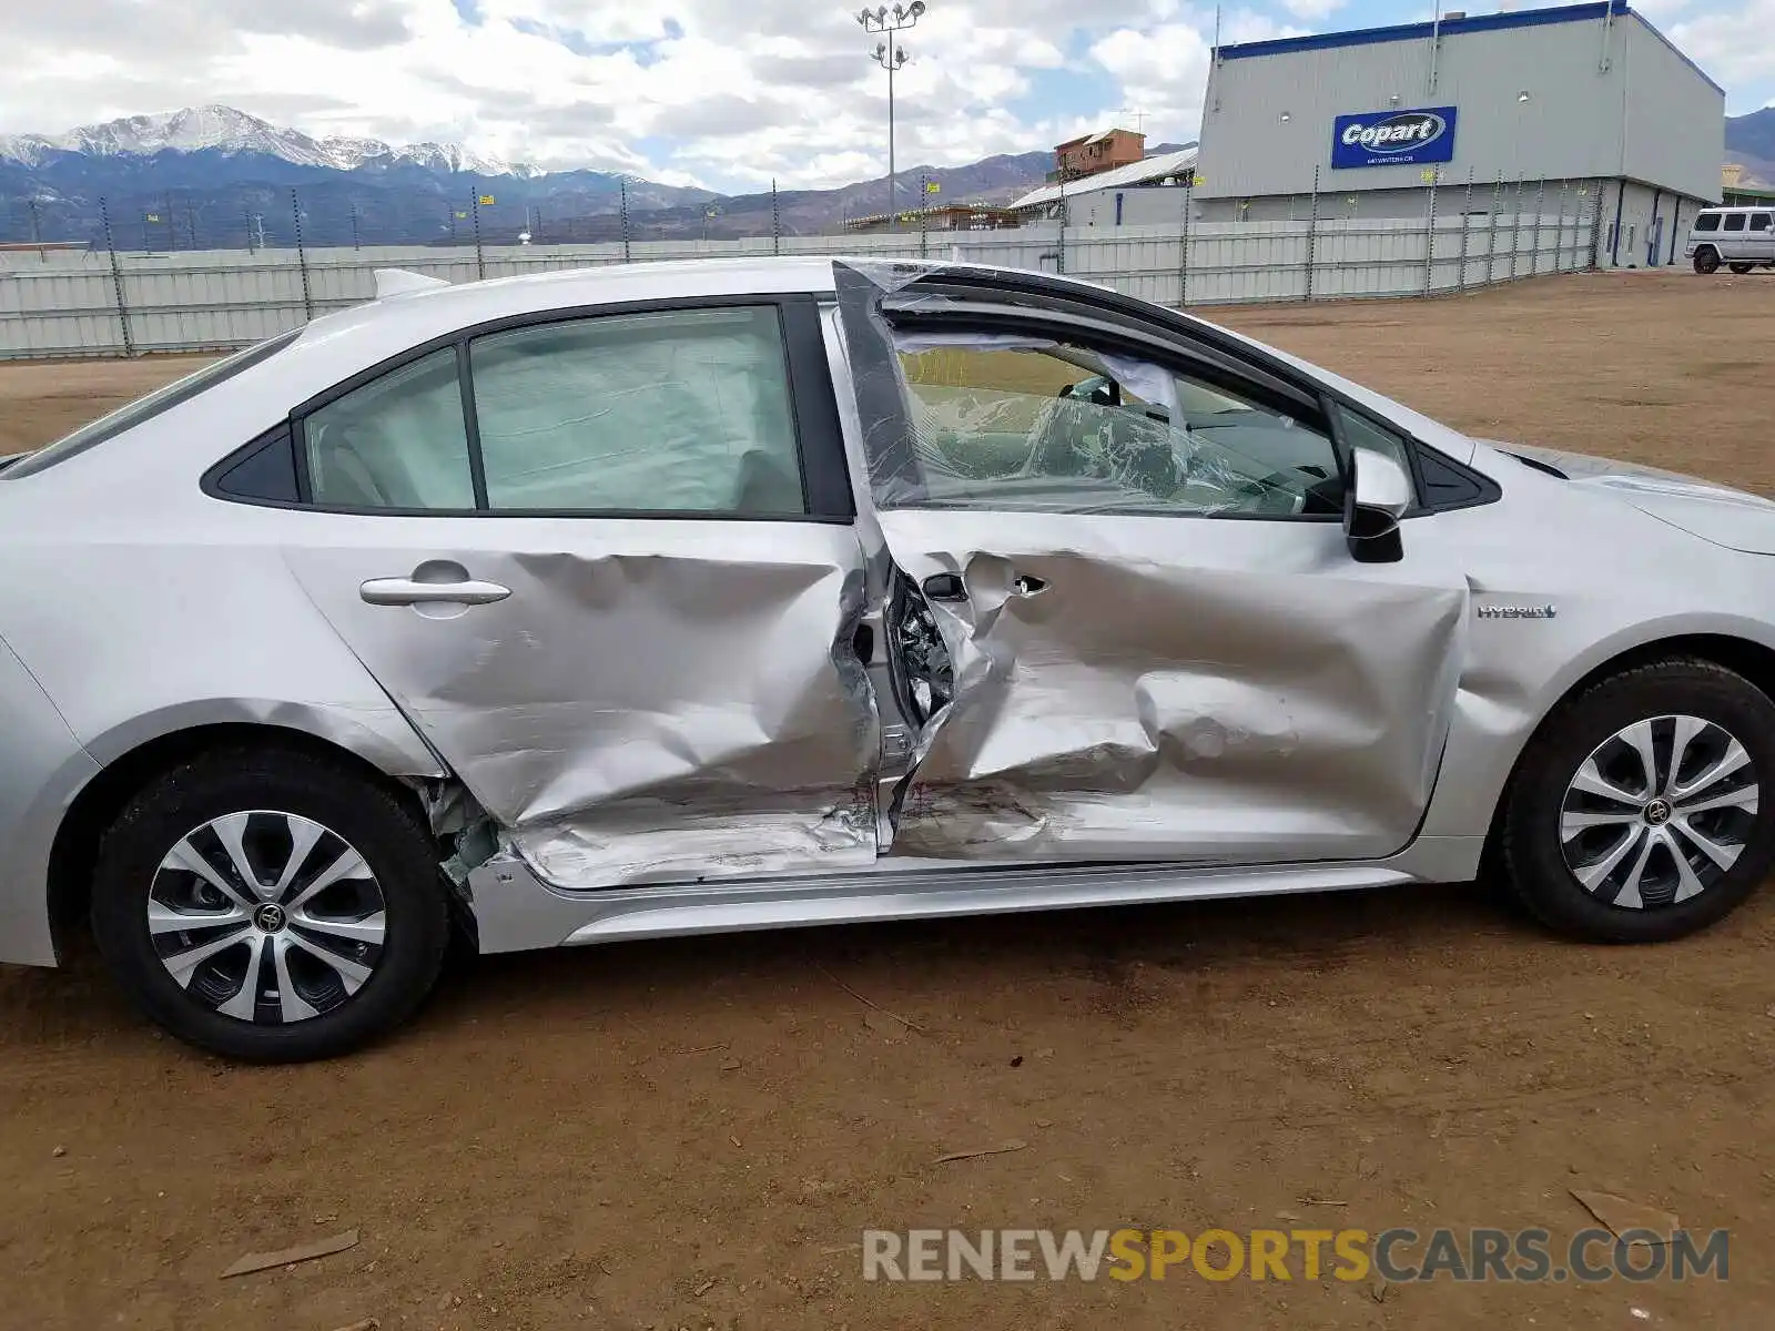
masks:
{"label": "black rubber tire of the front wheel, without its rim", "polygon": [[[1667,715],[1715,722],[1736,736],[1763,786],[1732,866],[1684,902],[1615,905],[1592,896],[1566,864],[1562,802],[1587,758],[1617,731]],[[1507,878],[1528,910],[1592,942],[1667,942],[1740,907],[1775,862],[1775,703],[1743,676],[1706,660],[1668,658],[1601,680],[1567,699],[1525,749],[1503,811]],[[1668,861],[1674,870],[1674,861]]]}

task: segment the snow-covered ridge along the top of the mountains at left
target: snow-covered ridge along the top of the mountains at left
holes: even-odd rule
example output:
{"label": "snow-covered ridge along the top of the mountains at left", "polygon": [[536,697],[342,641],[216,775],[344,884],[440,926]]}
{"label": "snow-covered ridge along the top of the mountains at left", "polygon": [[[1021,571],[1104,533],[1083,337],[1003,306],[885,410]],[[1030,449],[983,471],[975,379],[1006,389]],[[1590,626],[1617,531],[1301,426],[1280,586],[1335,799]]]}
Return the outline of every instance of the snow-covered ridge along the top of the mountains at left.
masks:
{"label": "snow-covered ridge along the top of the mountains at left", "polygon": [[532,177],[543,174],[527,163],[481,156],[456,144],[392,146],[380,138],[312,138],[233,106],[186,106],[160,115],[128,115],[105,124],[82,124],[60,135],[0,135],[0,161],[36,167],[51,153],[92,158],[153,156],[163,151],[222,154],[263,153],[296,167],[359,170],[364,167],[415,165],[438,172]]}

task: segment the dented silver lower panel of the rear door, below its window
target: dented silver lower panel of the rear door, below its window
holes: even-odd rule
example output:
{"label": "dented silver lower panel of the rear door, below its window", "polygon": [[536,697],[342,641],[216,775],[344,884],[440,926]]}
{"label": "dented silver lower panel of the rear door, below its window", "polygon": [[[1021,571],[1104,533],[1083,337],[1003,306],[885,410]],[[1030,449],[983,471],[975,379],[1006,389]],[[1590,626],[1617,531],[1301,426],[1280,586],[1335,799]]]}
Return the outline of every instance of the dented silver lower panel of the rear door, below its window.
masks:
{"label": "dented silver lower panel of the rear door, below its window", "polygon": [[[406,520],[415,539],[426,524]],[[880,722],[856,651],[864,586],[848,527],[472,531],[481,548],[424,557],[511,595],[453,618],[362,602],[360,582],[405,573],[412,548],[289,559],[538,873],[611,887],[875,862]]]}

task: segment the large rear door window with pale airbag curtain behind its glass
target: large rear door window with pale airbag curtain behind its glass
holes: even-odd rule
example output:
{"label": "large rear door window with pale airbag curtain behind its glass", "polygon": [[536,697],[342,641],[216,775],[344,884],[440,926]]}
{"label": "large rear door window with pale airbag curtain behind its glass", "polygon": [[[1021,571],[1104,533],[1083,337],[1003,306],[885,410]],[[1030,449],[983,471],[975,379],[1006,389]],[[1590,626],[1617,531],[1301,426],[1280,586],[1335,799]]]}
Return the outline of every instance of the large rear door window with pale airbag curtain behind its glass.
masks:
{"label": "large rear door window with pale airbag curtain behind its glass", "polygon": [[808,511],[774,305],[492,334],[470,367],[488,508]]}

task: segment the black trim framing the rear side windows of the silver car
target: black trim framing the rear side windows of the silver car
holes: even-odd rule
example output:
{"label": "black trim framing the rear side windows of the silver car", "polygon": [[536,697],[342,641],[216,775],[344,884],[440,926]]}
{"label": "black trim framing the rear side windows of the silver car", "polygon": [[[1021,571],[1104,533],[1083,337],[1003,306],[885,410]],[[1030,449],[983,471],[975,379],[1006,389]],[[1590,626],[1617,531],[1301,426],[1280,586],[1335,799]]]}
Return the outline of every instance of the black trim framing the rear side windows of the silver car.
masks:
{"label": "black trim framing the rear side windows of the silver car", "polygon": [[[584,509],[584,508],[488,508],[486,469],[481,458],[481,435],[474,412],[474,376],[469,346],[477,337],[536,328],[552,323],[579,323],[625,314],[664,314],[673,311],[708,309],[770,309],[777,316],[777,334],[783,348],[783,374],[788,387],[790,424],[795,433],[795,456],[801,467],[804,513],[730,513],[706,509]],[[476,508],[375,508],[357,504],[314,502],[309,476],[304,421],[323,406],[375,383],[422,357],[456,348],[456,380],[463,394],[463,428],[469,435],[469,469],[474,479]],[[296,500],[247,497],[229,493],[222,477],[259,451],[291,447],[295,453]],[[838,419],[838,399],[832,390],[831,366],[825,360],[825,341],[820,330],[818,300],[813,293],[746,293],[733,296],[678,296],[669,300],[625,300],[602,305],[570,305],[547,311],[508,314],[497,319],[456,328],[410,346],[392,357],[357,371],[332,387],[293,406],[288,417],[272,431],[234,449],[213,463],[199,483],[202,493],[231,504],[259,508],[300,509],[305,513],[334,513],[346,516],[385,518],[637,518],[676,522],[818,522],[847,525],[856,520],[850,470],[845,461],[843,433]]]}

